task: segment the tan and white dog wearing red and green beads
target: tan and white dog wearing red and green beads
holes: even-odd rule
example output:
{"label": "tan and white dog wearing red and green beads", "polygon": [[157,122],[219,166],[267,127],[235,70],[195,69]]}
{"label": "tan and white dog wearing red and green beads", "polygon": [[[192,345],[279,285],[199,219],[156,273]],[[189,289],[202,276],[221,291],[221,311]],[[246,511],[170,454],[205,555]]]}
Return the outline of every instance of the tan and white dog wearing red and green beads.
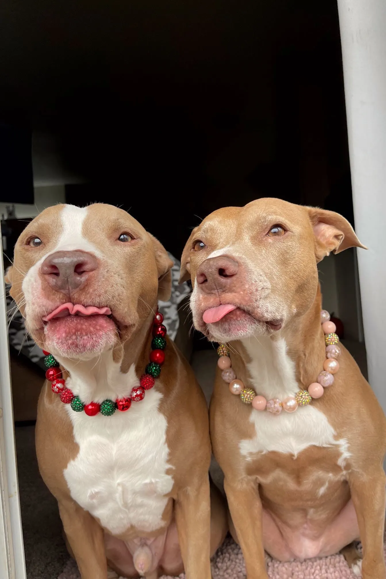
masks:
{"label": "tan and white dog wearing red and green beads", "polygon": [[[126,398],[139,386],[172,265],[159,241],[110,205],[50,207],[19,237],[11,295],[83,404]],[[112,416],[74,412],[43,386],[39,468],[82,579],[153,579],[183,568],[190,579],[211,576],[227,521],[214,493],[210,518],[206,402],[170,340],[165,354],[144,399]]]}

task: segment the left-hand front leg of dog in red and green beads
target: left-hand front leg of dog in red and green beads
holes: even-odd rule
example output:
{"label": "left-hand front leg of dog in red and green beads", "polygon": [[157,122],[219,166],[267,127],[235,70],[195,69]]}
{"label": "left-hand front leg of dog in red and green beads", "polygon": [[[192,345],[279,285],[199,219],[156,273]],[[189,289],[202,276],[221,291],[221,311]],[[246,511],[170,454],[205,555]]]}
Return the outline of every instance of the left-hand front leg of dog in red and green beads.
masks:
{"label": "left-hand front leg of dog in red and green beads", "polygon": [[82,579],[107,579],[103,529],[75,501],[59,502],[65,536]]}

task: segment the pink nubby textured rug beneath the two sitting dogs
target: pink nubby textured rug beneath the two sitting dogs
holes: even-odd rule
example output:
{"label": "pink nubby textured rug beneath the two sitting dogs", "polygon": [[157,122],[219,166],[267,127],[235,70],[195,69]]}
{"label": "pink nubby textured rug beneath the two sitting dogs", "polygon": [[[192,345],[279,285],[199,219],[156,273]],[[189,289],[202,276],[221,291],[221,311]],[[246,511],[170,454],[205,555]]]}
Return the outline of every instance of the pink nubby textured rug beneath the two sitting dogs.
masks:
{"label": "pink nubby textured rug beneath the two sitting dogs", "polygon": [[[343,555],[324,559],[309,559],[303,563],[279,563],[267,557],[268,575],[271,579],[355,579]],[[246,579],[241,550],[231,538],[227,538],[212,561],[213,579]],[[179,579],[184,579],[180,575]],[[80,579],[77,565],[70,559],[58,579]],[[163,576],[162,579],[174,579]],[[197,579],[199,579],[197,577]]]}

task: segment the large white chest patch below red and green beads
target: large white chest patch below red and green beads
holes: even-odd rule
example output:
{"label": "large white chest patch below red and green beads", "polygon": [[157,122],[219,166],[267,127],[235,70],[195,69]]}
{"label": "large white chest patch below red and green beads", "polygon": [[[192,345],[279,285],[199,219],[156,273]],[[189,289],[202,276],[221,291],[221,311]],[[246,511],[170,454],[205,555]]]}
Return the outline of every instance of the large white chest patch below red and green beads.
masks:
{"label": "large white chest patch below red and green beads", "polygon": [[167,463],[166,419],[161,394],[114,416],[86,416],[68,409],[79,445],[64,471],[71,497],[98,518],[111,534],[134,526],[151,532],[163,525],[165,494],[173,487]]}

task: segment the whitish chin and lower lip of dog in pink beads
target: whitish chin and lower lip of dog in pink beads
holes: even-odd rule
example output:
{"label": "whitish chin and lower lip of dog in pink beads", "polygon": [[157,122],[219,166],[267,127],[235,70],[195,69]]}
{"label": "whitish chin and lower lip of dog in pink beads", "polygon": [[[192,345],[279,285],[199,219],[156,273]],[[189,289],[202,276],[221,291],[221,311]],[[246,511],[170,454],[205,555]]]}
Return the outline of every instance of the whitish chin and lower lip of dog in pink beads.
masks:
{"label": "whitish chin and lower lip of dog in pink beads", "polygon": [[221,320],[200,329],[212,342],[231,342],[252,336],[270,336],[282,328],[281,320],[261,321],[237,308]]}

